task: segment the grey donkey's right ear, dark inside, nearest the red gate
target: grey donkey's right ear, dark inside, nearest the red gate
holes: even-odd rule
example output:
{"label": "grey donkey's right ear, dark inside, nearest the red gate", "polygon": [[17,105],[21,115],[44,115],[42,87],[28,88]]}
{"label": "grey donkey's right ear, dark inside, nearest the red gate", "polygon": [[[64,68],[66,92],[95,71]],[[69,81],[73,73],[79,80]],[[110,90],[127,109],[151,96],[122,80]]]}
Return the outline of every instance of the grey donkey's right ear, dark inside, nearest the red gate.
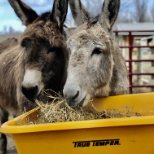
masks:
{"label": "grey donkey's right ear, dark inside, nearest the red gate", "polygon": [[100,23],[107,26],[109,30],[112,29],[114,25],[118,12],[120,8],[120,0],[105,0],[102,8],[102,13],[100,15]]}

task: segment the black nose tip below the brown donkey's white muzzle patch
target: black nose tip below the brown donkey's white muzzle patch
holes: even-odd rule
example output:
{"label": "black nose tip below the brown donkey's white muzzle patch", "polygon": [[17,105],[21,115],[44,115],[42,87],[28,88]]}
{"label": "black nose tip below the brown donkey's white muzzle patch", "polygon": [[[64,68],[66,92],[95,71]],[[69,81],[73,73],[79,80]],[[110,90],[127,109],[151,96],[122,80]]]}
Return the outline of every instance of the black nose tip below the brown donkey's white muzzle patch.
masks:
{"label": "black nose tip below the brown donkey's white muzzle patch", "polygon": [[22,86],[21,91],[29,100],[33,100],[38,93],[38,86],[30,88]]}

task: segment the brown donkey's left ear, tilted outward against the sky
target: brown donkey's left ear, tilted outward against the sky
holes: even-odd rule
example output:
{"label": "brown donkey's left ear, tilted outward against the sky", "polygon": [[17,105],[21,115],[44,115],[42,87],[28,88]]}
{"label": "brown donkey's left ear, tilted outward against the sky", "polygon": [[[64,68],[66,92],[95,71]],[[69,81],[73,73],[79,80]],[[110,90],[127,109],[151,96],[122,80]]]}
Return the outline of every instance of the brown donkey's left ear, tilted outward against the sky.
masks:
{"label": "brown donkey's left ear, tilted outward against the sky", "polygon": [[20,0],[9,0],[9,3],[25,26],[31,24],[38,17],[33,9]]}

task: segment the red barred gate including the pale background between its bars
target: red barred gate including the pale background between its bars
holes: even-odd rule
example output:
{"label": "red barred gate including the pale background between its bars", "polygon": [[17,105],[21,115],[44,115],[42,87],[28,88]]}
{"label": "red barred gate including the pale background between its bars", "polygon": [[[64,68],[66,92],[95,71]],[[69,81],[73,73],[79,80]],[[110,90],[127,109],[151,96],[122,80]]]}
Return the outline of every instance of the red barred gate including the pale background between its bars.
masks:
{"label": "red barred gate including the pale background between its bars", "polygon": [[[154,90],[154,30],[153,31],[114,31],[119,47],[126,58],[130,93],[135,93],[135,88],[149,88]],[[126,54],[127,52],[127,54]],[[146,54],[147,53],[147,54]],[[135,63],[135,64],[134,64]],[[147,65],[146,63],[150,63]],[[149,67],[151,65],[151,68]],[[145,68],[143,68],[145,66]],[[136,76],[136,80],[133,77]],[[141,76],[148,76],[142,78]],[[143,80],[143,82],[141,81]],[[138,90],[138,92],[143,90]]]}

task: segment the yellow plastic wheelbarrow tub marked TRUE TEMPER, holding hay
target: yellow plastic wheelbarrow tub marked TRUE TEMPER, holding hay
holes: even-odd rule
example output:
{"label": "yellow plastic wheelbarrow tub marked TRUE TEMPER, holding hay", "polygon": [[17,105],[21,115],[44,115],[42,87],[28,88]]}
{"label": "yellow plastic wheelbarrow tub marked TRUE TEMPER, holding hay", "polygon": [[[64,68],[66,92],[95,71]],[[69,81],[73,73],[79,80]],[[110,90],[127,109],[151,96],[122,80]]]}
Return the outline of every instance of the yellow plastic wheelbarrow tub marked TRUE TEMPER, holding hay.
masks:
{"label": "yellow plastic wheelbarrow tub marked TRUE TEMPER, holding hay", "polygon": [[139,117],[19,126],[35,121],[39,108],[1,126],[19,154],[154,154],[154,93],[95,99],[97,110],[131,109]]}

